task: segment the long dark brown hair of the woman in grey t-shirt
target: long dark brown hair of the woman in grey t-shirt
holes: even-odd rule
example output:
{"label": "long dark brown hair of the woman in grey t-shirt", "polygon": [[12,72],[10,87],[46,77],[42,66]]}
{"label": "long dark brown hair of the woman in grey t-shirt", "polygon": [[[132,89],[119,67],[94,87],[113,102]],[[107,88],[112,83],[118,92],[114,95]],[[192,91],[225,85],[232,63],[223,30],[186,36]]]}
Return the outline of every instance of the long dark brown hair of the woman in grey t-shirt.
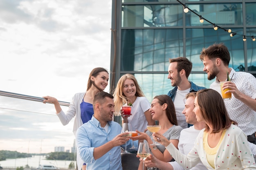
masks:
{"label": "long dark brown hair of the woman in grey t-shirt", "polygon": [[155,98],[158,99],[158,103],[161,106],[164,105],[164,103],[167,104],[166,116],[167,116],[168,120],[171,122],[171,124],[175,124],[177,126],[178,122],[177,122],[177,117],[176,117],[176,112],[175,112],[175,107],[174,107],[174,104],[173,104],[173,100],[171,100],[171,98],[169,96],[167,96],[166,94],[155,96],[154,99]]}

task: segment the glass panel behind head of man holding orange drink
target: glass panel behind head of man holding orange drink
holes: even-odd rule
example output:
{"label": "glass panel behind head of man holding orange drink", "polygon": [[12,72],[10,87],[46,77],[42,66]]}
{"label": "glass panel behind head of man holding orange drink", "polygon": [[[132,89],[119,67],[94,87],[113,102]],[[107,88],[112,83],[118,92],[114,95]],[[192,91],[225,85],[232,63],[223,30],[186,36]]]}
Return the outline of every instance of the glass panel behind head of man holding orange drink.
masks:
{"label": "glass panel behind head of man holding orange drink", "polygon": [[[243,29],[234,28],[232,32],[243,35]],[[238,69],[240,65],[244,66],[244,41],[240,35],[230,37],[230,33],[213,28],[186,29],[186,57],[193,63],[192,71],[203,70],[200,52],[214,43],[224,43],[228,47],[231,57],[229,67]]]}

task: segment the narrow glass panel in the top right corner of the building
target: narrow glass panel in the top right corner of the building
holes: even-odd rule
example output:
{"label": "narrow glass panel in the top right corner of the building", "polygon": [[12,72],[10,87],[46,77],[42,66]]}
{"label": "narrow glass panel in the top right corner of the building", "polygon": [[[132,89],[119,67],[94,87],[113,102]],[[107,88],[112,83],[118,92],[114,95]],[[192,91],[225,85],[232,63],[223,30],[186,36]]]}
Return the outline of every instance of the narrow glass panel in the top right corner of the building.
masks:
{"label": "narrow glass panel in the top right corner of the building", "polygon": [[256,25],[256,3],[245,3],[246,25]]}

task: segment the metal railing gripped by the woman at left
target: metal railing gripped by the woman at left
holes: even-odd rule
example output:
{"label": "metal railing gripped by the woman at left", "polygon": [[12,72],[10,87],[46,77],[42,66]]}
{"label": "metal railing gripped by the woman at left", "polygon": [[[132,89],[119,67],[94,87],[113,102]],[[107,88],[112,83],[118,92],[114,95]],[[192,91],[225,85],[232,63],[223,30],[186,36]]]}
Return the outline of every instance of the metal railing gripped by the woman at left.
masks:
{"label": "metal railing gripped by the woman at left", "polygon": [[[12,97],[12,98],[19,98],[19,99],[24,99],[24,100],[32,100],[36,102],[43,102],[45,98],[40,98],[40,97],[35,97],[35,96],[28,96],[25,94],[18,94],[18,93],[11,93],[11,92],[4,92],[0,91],[0,96],[6,96],[6,97]],[[63,101],[58,101],[60,105],[62,106],[69,106],[69,102],[63,102]],[[50,102],[47,102],[50,103]],[[51,103],[53,104],[53,103]]]}

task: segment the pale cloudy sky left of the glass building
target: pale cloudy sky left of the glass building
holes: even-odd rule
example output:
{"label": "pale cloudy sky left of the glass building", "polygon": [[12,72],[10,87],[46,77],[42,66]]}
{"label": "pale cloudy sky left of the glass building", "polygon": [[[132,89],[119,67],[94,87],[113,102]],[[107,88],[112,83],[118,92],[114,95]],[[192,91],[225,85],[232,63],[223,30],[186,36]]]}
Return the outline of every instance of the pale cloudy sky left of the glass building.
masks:
{"label": "pale cloudy sky left of the glass building", "polygon": [[[110,70],[111,10],[111,0],[0,0],[0,91],[65,102],[85,92],[93,68]],[[52,104],[0,96],[0,150],[71,150],[73,124]]]}

